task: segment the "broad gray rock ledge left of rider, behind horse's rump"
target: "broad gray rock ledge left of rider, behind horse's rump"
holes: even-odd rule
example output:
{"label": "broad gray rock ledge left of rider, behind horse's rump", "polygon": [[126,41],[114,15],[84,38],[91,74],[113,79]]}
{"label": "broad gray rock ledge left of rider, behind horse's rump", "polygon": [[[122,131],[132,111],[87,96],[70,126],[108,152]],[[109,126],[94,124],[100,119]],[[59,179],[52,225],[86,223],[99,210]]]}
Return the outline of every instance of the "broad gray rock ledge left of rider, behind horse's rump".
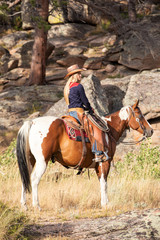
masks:
{"label": "broad gray rock ledge left of rider, behind horse's rump", "polygon": [[5,89],[0,93],[0,131],[17,131],[31,114],[42,115],[62,97],[62,87],[54,85]]}

